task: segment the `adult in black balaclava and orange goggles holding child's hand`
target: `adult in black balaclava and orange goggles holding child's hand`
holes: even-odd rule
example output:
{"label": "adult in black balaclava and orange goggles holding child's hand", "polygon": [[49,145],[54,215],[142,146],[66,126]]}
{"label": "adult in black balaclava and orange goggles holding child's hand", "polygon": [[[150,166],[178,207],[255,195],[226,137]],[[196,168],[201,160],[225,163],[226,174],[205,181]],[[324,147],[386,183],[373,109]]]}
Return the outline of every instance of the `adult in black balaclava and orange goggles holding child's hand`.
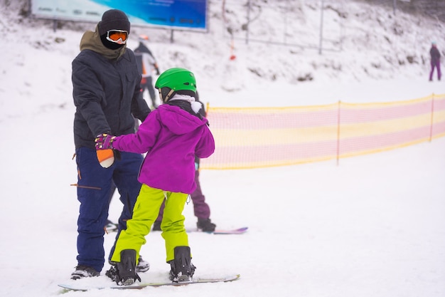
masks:
{"label": "adult in black balaclava and orange goggles holding child's hand", "polygon": [[77,266],[71,274],[73,279],[99,276],[102,271],[104,226],[112,184],[119,190],[123,204],[117,236],[127,228],[141,189],[137,180],[143,160],[141,154],[112,150],[99,154],[95,150],[97,135],[133,134],[134,118],[145,120],[150,113],[140,96],[141,75],[136,58],[126,46],[129,33],[130,22],[123,11],[105,11],[95,31],[83,34],[80,53],[72,63],[77,199],[80,202]]}

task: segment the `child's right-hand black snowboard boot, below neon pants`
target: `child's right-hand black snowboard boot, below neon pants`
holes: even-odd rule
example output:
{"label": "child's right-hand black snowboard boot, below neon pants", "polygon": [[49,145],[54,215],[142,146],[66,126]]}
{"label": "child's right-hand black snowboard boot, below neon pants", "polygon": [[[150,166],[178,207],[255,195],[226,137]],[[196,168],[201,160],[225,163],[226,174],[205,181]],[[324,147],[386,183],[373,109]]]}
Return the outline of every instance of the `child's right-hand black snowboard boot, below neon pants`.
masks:
{"label": "child's right-hand black snowboard boot, below neon pants", "polygon": [[196,267],[191,263],[190,246],[176,246],[175,259],[168,261],[171,266],[170,280],[178,283],[191,281]]}

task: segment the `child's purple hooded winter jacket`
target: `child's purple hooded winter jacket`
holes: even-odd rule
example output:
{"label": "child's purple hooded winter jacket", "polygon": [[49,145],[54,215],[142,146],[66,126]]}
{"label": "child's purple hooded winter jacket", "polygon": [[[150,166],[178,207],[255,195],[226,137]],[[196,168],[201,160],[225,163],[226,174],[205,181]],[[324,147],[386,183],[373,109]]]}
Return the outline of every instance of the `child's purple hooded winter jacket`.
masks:
{"label": "child's purple hooded winter jacket", "polygon": [[169,192],[191,194],[195,184],[195,155],[209,157],[215,140],[206,119],[168,104],[149,113],[136,134],[122,135],[113,148],[137,152],[146,157],[139,171],[139,182]]}

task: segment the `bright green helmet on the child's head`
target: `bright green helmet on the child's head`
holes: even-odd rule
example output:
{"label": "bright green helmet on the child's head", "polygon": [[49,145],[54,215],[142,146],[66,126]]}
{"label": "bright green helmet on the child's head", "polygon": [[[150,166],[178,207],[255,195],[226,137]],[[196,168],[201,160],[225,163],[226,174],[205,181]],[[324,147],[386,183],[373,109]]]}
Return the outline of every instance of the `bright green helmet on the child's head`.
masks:
{"label": "bright green helmet on the child's head", "polygon": [[196,93],[195,75],[184,68],[170,68],[159,75],[155,88],[171,88],[171,90],[191,90]]}

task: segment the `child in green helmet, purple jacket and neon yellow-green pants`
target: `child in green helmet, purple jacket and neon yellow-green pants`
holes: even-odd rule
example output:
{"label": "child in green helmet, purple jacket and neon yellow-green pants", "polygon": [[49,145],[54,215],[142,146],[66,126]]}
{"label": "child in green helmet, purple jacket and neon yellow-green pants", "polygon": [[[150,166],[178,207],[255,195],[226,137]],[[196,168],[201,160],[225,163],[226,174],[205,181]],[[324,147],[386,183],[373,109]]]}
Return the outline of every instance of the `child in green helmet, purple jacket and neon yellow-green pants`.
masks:
{"label": "child in green helmet, purple jacket and neon yellow-green pants", "polygon": [[155,88],[163,104],[149,114],[136,134],[102,134],[96,138],[97,150],[146,152],[139,172],[142,187],[133,217],[127,221],[127,229],[119,234],[111,258],[113,265],[106,273],[119,285],[140,281],[136,260],[164,199],[161,227],[166,262],[171,265],[170,279],[190,281],[195,271],[182,212],[188,195],[196,187],[195,155],[200,158],[212,155],[215,140],[208,121],[198,113],[201,105],[195,102],[196,81],[191,71],[168,69],[156,80]]}

